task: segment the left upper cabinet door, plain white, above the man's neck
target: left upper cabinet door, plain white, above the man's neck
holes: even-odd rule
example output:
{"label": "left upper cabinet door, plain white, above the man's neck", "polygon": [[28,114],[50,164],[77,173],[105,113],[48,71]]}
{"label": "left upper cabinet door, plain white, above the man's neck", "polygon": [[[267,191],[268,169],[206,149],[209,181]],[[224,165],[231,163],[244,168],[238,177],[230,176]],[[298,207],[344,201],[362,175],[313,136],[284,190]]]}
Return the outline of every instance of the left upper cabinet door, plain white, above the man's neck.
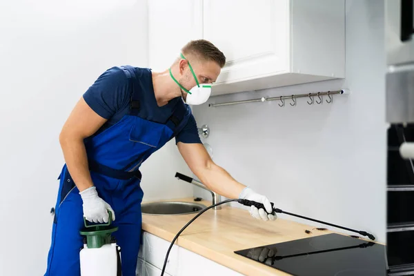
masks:
{"label": "left upper cabinet door, plain white, above the man's neck", "polygon": [[202,19],[202,0],[148,1],[149,67],[168,69],[188,41],[202,38]]}

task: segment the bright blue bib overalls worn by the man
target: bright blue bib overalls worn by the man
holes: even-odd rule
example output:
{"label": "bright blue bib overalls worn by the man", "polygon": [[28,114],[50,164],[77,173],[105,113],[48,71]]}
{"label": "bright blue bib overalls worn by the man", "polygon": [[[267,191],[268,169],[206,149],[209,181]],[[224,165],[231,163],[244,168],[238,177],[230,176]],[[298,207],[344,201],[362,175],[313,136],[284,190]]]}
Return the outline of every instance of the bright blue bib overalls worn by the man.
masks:
{"label": "bright blue bib overalls worn by the man", "polygon": [[[179,101],[165,124],[147,119],[140,104],[144,87],[137,81],[139,72],[121,67],[130,81],[130,112],[117,124],[85,142],[92,181],[99,197],[114,209],[113,234],[121,247],[122,275],[135,276],[141,238],[141,172],[139,166],[184,128],[191,111]],[[82,200],[66,164],[59,176],[59,194],[52,226],[52,243],[45,276],[79,276],[79,251],[83,237]],[[103,264],[104,265],[104,264]]]}

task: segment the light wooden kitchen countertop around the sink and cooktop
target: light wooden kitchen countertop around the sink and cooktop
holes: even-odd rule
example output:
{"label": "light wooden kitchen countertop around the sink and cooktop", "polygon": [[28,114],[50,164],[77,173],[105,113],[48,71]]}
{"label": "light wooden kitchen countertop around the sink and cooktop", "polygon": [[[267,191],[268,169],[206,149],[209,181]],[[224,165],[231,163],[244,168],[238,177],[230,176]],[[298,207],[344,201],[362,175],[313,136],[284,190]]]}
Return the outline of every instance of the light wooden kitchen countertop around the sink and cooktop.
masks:
{"label": "light wooden kitchen countertop around the sink and cooktop", "polygon": [[[193,202],[194,199],[166,201]],[[210,201],[204,200],[197,203],[211,205]],[[244,275],[289,274],[237,255],[234,253],[235,250],[333,233],[330,230],[317,230],[313,229],[313,226],[280,218],[275,221],[259,221],[250,217],[248,210],[221,206],[221,210],[210,209],[193,221],[181,233],[175,244]],[[171,242],[178,231],[195,215],[197,214],[164,216],[143,214],[142,229]],[[311,230],[312,233],[306,234],[306,229]]]}

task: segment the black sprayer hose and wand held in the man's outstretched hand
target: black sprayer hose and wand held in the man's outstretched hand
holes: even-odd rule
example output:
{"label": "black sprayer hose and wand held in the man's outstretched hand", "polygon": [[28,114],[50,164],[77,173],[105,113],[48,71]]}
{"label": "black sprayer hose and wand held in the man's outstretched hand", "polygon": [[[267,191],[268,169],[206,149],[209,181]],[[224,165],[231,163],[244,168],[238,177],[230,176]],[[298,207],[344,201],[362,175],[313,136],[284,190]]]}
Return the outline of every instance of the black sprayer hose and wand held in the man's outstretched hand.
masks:
{"label": "black sprayer hose and wand held in the man's outstretched hand", "polygon": [[[197,217],[199,217],[201,214],[206,212],[206,210],[209,210],[210,208],[213,208],[215,206],[219,206],[221,204],[225,204],[225,203],[228,203],[228,202],[231,202],[231,201],[237,201],[237,202],[239,202],[239,204],[243,204],[244,206],[255,206],[257,209],[262,208],[267,213],[267,211],[264,208],[263,204],[258,203],[256,201],[251,201],[251,200],[248,200],[248,199],[227,199],[227,200],[224,200],[224,201],[220,201],[219,203],[214,204],[212,206],[208,206],[204,210],[201,210],[201,212],[198,213],[195,217],[193,217],[193,219],[188,221],[188,223],[183,228],[181,228],[181,230],[179,230],[179,233],[177,233],[177,235],[175,235],[174,239],[172,239],[172,242],[171,242],[170,247],[168,248],[168,251],[167,251],[167,254],[166,254],[166,258],[164,259],[164,266],[162,268],[161,276],[164,275],[164,271],[166,270],[167,259],[168,259],[168,255],[170,255],[170,250],[171,250],[172,246],[174,245],[175,241],[178,239],[178,236],[187,228],[187,226],[189,226],[193,221],[195,221],[195,219],[197,219]],[[272,208],[273,208],[273,206],[274,206],[273,202],[270,202],[270,204],[272,204]],[[336,224],[330,224],[330,223],[325,222],[325,221],[320,221],[320,220],[317,220],[317,219],[311,219],[310,217],[304,217],[302,215],[296,215],[296,214],[293,214],[293,213],[288,213],[288,212],[285,212],[284,210],[281,210],[279,208],[273,208],[272,215],[275,215],[275,213],[283,213],[283,214],[291,215],[291,216],[294,216],[294,217],[300,217],[301,219],[308,219],[308,220],[311,220],[311,221],[316,221],[316,222],[319,222],[321,224],[326,224],[326,225],[329,225],[329,226],[342,228],[344,230],[348,230],[348,231],[351,231],[351,232],[358,233],[359,235],[367,236],[372,240],[375,239],[374,235],[372,235],[370,233],[366,233],[365,231],[353,230],[351,228],[346,228],[346,227],[343,227],[343,226],[337,226]]]}

